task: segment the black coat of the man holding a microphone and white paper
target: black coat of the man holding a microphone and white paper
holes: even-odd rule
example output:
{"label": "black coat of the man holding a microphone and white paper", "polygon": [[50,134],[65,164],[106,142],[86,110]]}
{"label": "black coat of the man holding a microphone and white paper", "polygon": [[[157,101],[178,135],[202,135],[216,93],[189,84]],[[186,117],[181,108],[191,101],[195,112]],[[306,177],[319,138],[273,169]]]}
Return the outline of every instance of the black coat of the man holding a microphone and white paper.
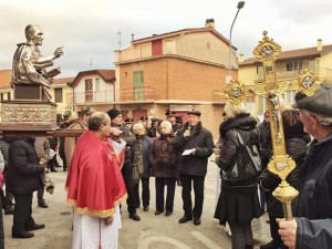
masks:
{"label": "black coat of the man holding a microphone and white paper", "polygon": [[180,153],[191,148],[196,148],[196,153],[195,155],[180,156],[178,172],[180,175],[206,176],[208,157],[214,149],[212,134],[201,126],[201,122],[191,129],[191,135],[188,139],[184,137],[186,129],[188,129],[188,123],[176,133],[173,145]]}

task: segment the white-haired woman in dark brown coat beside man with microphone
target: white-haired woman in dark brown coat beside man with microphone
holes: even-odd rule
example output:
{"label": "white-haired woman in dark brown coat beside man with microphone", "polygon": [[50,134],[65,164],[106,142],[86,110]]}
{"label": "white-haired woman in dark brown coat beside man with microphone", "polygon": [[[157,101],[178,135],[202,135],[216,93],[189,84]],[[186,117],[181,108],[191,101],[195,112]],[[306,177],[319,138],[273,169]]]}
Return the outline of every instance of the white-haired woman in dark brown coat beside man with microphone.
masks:
{"label": "white-haired woman in dark brown coat beside man with microphone", "polygon": [[160,133],[162,135],[154,142],[148,157],[152,165],[152,174],[156,177],[155,215],[160,215],[164,211],[164,190],[165,186],[167,186],[165,216],[170,216],[174,207],[178,153],[172,145],[175,134],[170,122],[164,121],[160,124]]}

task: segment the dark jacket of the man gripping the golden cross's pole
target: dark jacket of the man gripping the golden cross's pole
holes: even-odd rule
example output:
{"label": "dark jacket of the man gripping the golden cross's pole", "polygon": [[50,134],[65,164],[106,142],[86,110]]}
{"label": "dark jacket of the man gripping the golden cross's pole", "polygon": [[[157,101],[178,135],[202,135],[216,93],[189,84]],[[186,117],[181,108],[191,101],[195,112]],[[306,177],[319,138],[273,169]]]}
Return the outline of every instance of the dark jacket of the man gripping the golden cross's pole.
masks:
{"label": "dark jacket of the man gripping the golden cross's pole", "polygon": [[297,248],[330,249],[332,245],[332,133],[313,141],[301,168]]}

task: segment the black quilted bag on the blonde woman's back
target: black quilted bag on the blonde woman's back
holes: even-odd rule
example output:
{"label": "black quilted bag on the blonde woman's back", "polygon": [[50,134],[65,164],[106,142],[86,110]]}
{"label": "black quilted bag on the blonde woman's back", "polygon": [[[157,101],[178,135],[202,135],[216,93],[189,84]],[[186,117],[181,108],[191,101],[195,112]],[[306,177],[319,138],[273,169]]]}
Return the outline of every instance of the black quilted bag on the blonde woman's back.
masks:
{"label": "black quilted bag on the blonde woman's back", "polygon": [[239,146],[228,170],[222,170],[222,179],[228,181],[243,181],[258,177],[261,173],[261,158],[259,148],[255,144],[246,145],[241,135],[234,131],[239,141]]}

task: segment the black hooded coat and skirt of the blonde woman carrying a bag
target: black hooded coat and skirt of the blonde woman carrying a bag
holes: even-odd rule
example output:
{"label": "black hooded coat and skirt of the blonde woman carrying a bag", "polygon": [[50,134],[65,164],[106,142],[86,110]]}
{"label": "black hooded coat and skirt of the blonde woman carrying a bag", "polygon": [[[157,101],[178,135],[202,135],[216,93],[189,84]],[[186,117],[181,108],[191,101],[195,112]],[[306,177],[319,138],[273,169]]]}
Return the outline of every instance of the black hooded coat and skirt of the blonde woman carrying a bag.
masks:
{"label": "black hooded coat and skirt of the blonde woman carrying a bag", "polygon": [[[220,137],[222,137],[220,158],[218,167],[222,170],[231,170],[235,164],[237,147],[240,142],[234,133],[236,129],[242,137],[245,144],[255,144],[259,146],[258,131],[256,129],[256,120],[249,114],[239,114],[230,117],[220,125]],[[220,175],[222,172],[220,170]],[[258,179],[243,181],[221,180],[221,191],[215,211],[215,218],[220,224],[226,221],[230,224],[249,224],[253,218],[261,216],[258,193]]]}

